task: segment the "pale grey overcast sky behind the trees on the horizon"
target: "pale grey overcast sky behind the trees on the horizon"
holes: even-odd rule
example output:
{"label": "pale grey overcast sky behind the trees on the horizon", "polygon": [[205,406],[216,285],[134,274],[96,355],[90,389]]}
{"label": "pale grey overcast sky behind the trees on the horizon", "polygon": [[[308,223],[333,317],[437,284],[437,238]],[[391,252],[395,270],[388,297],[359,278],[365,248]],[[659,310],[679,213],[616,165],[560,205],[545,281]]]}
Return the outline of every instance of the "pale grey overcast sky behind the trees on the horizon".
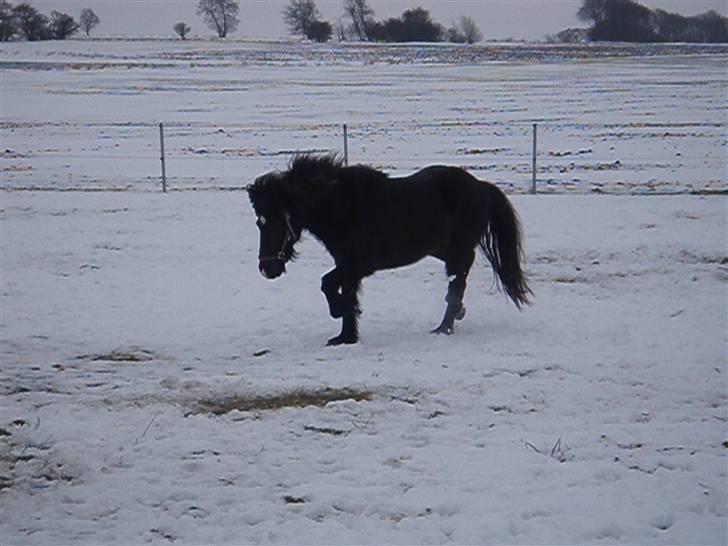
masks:
{"label": "pale grey overcast sky behind the trees on the horizon", "polygon": [[[19,0],[11,0],[12,4]],[[57,10],[78,19],[81,9],[91,8],[101,19],[96,35],[172,36],[172,26],[183,21],[192,33],[210,36],[195,14],[197,0],[30,0],[38,10]],[[287,35],[281,10],[288,0],[240,0],[240,27],[236,37],[283,38]],[[726,0],[642,0],[650,8],[683,15],[715,10],[728,12]],[[342,0],[316,0],[322,18],[336,22],[343,13]],[[399,16],[406,9],[422,6],[432,18],[450,25],[459,15],[470,15],[485,39],[543,38],[570,26],[584,26],[576,19],[581,0],[369,0],[375,18]]]}

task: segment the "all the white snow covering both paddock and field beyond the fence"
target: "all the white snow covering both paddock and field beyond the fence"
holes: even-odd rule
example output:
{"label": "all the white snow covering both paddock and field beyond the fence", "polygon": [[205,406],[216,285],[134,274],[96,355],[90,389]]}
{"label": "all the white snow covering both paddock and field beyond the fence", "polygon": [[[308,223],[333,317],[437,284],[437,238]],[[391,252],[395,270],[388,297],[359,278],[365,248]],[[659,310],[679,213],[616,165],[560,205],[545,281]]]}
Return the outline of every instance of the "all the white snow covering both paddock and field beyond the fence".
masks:
{"label": "all the white snow covering both paddock and field beyond the fence", "polygon": [[[25,45],[2,46],[10,47]],[[666,180],[671,169],[669,192],[683,192],[686,181],[725,188],[725,163],[711,162],[725,158],[726,146],[725,121],[709,125],[725,101],[715,56],[620,60],[619,76],[605,74],[613,62],[488,65],[485,76],[483,67],[457,64],[375,67],[383,70],[377,92],[391,89],[394,104],[356,103],[349,119],[368,118],[379,132],[367,136],[372,155],[360,141],[351,149],[406,172],[427,157],[457,163],[463,146],[497,148],[487,124],[458,136],[423,124],[414,140],[396,127],[419,108],[438,121],[474,121],[437,113],[447,97],[434,89],[464,74],[484,77],[496,94],[512,88],[529,108],[500,114],[499,130],[534,111],[556,116],[556,98],[543,102],[545,90],[533,98],[531,77],[528,86],[519,80],[530,73],[558,82],[567,110],[560,118],[585,118],[586,142],[555,132],[548,149],[576,155],[605,138],[618,148],[619,180],[639,193],[659,193],[640,180]],[[432,336],[447,280],[428,259],[367,279],[361,343],[324,347],[338,332],[319,291],[330,257],[305,238],[288,273],[265,280],[247,196],[214,191],[210,180],[232,187],[285,165],[285,156],[260,155],[256,146],[336,148],[326,124],[344,117],[344,95],[357,92],[347,79],[369,78],[372,68],[289,67],[288,83],[265,64],[254,75],[229,66],[156,70],[3,70],[0,148],[23,158],[3,157],[0,193],[2,544],[726,542],[724,194],[590,194],[592,174],[607,193],[622,190],[601,171],[571,191],[554,174],[554,195],[511,194],[533,306],[517,311],[479,260],[465,320],[453,336]],[[417,75],[426,104],[407,106],[410,84],[394,83],[402,72]],[[694,103],[671,96],[685,87],[674,83],[676,72],[693,82]],[[622,99],[607,94],[597,112],[584,112],[586,103],[566,100],[584,73],[598,85],[619,83],[623,97],[648,93],[652,103],[620,111]],[[265,84],[245,99],[198,88],[201,75],[222,82],[236,74]],[[84,75],[103,92],[50,91],[82,89]],[[188,76],[194,83],[184,90],[109,94],[148,77],[177,86]],[[312,95],[317,78],[326,85]],[[452,93],[476,96],[468,86]],[[288,110],[304,87],[305,108]],[[493,96],[473,100],[482,106]],[[225,117],[238,108],[244,121],[230,140],[253,150],[251,158],[187,159],[186,181],[170,161],[174,187],[211,191],[153,192],[158,178],[144,179],[144,161],[81,152],[106,146],[97,133],[108,131],[108,146],[128,136],[131,151],[121,155],[141,153],[142,122],[154,129],[152,111],[175,112],[187,101],[208,105],[200,123],[226,132]],[[669,144],[597,136],[610,112],[615,133],[641,132],[624,127],[636,111],[653,112],[652,123],[672,123],[669,112],[700,128]],[[198,114],[178,115],[192,123]],[[221,155],[228,137],[191,126],[170,138],[175,153],[194,145]],[[59,157],[43,151],[51,145]],[[663,154],[665,169],[631,163],[672,146],[703,159],[676,167]],[[64,159],[75,151],[79,159]],[[70,166],[56,177],[64,162]],[[204,178],[193,181],[195,173]],[[528,183],[527,173],[476,174],[504,187],[509,175],[516,190]],[[79,188],[129,191],[48,191]],[[341,399],[301,407],[301,395]],[[243,411],[224,411],[236,405]]]}

